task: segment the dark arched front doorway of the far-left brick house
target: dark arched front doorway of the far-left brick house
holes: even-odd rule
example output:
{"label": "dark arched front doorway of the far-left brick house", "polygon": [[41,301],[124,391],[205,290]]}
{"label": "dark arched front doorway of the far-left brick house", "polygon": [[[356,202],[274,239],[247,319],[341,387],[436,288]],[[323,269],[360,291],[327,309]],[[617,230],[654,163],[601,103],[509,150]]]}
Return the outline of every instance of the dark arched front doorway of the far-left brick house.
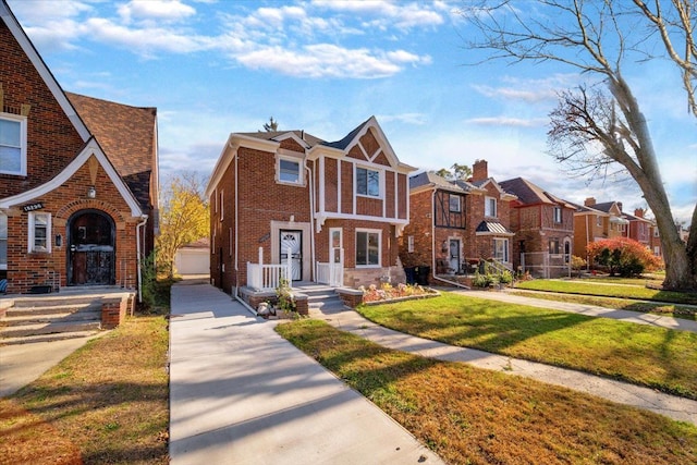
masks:
{"label": "dark arched front doorway of the far-left brick house", "polygon": [[115,283],[115,228],[99,210],[81,210],[68,220],[68,284]]}

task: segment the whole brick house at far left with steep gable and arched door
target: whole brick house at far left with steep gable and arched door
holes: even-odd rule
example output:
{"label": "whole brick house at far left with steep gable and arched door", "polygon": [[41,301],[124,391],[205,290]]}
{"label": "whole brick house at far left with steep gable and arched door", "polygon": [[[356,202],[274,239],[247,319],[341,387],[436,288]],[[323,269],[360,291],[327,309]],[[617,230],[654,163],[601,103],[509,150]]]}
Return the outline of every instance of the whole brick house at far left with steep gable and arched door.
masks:
{"label": "whole brick house at far left with steep gable and arched door", "polygon": [[157,115],[65,94],[0,0],[0,279],[135,287],[157,209]]}

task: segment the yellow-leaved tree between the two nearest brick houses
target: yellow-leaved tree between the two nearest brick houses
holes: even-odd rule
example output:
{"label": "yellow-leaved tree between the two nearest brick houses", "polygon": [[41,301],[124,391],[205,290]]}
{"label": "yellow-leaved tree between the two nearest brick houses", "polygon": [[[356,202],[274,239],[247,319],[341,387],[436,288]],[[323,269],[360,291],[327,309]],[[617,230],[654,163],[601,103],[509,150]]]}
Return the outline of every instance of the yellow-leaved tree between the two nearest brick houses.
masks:
{"label": "yellow-leaved tree between the two nearest brick houses", "polygon": [[195,172],[172,176],[160,192],[160,234],[156,238],[157,267],[171,278],[176,250],[209,234],[204,181]]}

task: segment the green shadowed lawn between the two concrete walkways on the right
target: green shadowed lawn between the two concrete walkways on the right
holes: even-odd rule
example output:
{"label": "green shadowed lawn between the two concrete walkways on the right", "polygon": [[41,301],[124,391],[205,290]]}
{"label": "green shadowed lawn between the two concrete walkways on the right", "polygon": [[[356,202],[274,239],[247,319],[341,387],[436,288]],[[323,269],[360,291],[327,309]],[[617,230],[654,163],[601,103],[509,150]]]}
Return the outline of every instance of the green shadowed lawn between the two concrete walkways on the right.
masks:
{"label": "green shadowed lawn between the two concrete walkways on the right", "polygon": [[692,332],[447,292],[358,311],[408,334],[697,399],[697,334]]}

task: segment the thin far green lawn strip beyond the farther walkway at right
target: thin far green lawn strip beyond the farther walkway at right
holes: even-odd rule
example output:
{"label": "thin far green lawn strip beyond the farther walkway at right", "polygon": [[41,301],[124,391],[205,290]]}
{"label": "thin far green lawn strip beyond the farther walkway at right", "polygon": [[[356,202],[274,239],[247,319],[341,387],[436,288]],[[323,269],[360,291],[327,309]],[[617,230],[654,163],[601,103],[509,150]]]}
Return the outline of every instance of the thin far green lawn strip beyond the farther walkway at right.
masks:
{"label": "thin far green lawn strip beyond the farther walkway at right", "polygon": [[533,280],[519,281],[516,289],[530,291],[560,292],[566,294],[598,295],[607,297],[634,298],[673,304],[697,305],[697,293],[659,291],[639,285],[612,285],[596,280]]}

